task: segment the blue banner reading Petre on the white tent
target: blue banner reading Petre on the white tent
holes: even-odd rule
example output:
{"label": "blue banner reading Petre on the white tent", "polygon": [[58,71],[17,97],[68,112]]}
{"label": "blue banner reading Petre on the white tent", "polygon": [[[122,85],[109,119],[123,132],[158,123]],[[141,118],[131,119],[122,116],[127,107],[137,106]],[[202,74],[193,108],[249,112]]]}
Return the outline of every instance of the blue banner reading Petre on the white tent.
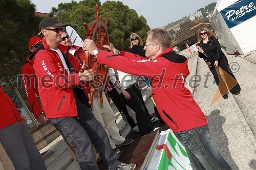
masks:
{"label": "blue banner reading Petre on the white tent", "polygon": [[228,28],[232,28],[256,15],[255,4],[256,0],[239,0],[236,3],[221,10],[220,13]]}

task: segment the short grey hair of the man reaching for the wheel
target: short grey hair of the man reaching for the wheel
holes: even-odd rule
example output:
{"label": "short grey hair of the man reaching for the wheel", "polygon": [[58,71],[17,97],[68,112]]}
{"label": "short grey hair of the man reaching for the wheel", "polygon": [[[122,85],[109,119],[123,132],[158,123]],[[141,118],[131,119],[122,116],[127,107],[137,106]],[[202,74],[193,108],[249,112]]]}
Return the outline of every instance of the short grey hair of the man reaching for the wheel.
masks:
{"label": "short grey hair of the man reaching for the wheel", "polygon": [[158,43],[163,47],[163,50],[172,46],[172,37],[167,30],[163,28],[155,28],[147,32],[147,36],[152,35],[151,41]]}

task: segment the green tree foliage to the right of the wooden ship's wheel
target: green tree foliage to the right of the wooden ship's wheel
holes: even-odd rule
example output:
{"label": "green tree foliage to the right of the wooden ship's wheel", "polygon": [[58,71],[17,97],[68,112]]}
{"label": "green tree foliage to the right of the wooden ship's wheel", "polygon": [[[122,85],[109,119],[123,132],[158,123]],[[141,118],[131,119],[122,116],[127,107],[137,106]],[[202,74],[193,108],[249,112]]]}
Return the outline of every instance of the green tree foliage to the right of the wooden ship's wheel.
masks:
{"label": "green tree foliage to the right of the wooden ship's wheel", "polygon": [[150,27],[143,16],[138,17],[135,10],[129,9],[121,2],[107,1],[101,6],[101,14],[109,18],[110,41],[117,48],[129,50],[132,33],[138,34],[145,41],[146,32],[150,30]]}

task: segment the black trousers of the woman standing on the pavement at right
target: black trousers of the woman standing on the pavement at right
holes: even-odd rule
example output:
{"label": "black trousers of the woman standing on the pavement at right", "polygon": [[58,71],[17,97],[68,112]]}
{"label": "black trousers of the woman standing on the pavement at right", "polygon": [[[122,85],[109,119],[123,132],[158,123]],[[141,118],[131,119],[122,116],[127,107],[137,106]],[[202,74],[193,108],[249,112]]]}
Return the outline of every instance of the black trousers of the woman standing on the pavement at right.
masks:
{"label": "black trousers of the woman standing on the pavement at right", "polygon": [[[219,61],[219,67],[223,71],[225,71],[229,76],[231,76],[234,80],[237,80],[236,77],[234,77],[234,75],[233,75],[233,73],[232,73],[232,71],[229,67],[228,60],[227,60],[226,57],[221,58],[221,60]],[[214,75],[214,79],[216,81],[216,84],[219,86],[220,79],[221,79],[221,81],[224,81],[224,80],[221,77],[218,76],[216,68],[210,69],[210,71],[211,71],[211,74]],[[224,76],[225,76],[225,74],[224,74]],[[226,77],[225,77],[225,79],[228,80],[228,78],[226,78]],[[224,81],[224,82],[226,82],[226,81]],[[232,94],[241,91],[241,87],[238,83],[236,85],[230,84],[230,82],[226,82],[226,83],[227,83],[228,89],[225,85],[222,85],[221,87],[219,86],[219,89],[220,89],[220,92],[221,92],[222,95],[224,95],[228,90]]]}

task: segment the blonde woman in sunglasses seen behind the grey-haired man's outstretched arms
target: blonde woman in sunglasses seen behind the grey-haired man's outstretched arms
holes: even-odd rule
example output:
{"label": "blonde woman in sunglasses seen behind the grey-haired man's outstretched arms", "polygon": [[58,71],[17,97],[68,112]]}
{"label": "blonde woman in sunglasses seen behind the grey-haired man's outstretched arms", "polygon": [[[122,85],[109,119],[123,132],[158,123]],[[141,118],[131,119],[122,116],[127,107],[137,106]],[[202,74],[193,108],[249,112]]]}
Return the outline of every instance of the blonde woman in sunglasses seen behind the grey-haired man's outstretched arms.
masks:
{"label": "blonde woman in sunglasses seen behind the grey-haired man's outstretched arms", "polygon": [[143,42],[141,38],[138,36],[138,34],[136,33],[131,34],[130,42],[131,42],[131,45],[130,45],[131,50],[129,51],[130,53],[137,54],[141,57],[146,57],[145,51],[143,50],[143,46],[142,46]]}

